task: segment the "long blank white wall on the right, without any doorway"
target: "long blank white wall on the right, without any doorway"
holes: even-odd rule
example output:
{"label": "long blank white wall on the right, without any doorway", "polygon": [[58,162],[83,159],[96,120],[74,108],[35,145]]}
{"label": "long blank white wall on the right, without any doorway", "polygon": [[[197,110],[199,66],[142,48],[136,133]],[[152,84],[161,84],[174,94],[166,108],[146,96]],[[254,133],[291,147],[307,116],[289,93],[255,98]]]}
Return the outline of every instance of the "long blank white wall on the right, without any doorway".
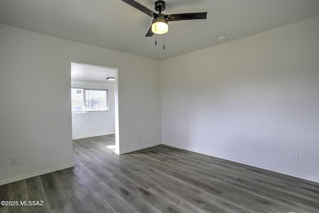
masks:
{"label": "long blank white wall on the right, without any doorway", "polygon": [[319,183],[318,26],[161,61],[163,143]]}

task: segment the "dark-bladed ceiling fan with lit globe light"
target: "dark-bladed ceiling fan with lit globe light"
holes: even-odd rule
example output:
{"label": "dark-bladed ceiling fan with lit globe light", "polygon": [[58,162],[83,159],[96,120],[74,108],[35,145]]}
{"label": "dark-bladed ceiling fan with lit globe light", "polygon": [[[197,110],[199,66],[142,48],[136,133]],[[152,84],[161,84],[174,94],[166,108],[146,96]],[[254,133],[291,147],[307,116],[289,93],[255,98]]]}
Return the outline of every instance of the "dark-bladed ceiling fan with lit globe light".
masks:
{"label": "dark-bladed ceiling fan with lit globe light", "polygon": [[135,0],[122,0],[131,6],[141,10],[145,14],[153,17],[152,25],[146,34],[146,36],[153,36],[156,34],[164,34],[168,31],[168,21],[179,21],[179,20],[191,20],[191,19],[205,19],[207,12],[190,12],[190,13],[177,13],[177,14],[162,14],[161,12],[165,10],[166,3],[163,0],[155,1],[155,10],[154,12],[146,6],[140,4]]}

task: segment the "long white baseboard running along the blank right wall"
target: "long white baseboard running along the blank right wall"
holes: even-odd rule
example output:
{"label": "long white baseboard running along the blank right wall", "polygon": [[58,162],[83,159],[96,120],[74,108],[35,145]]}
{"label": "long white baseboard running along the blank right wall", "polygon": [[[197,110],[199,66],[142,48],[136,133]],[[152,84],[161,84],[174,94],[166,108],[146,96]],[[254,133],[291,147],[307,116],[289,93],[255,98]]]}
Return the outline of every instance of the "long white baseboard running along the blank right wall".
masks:
{"label": "long white baseboard running along the blank right wall", "polygon": [[162,142],[162,144],[166,145],[166,146],[170,146],[170,147],[175,147],[175,148],[178,148],[178,149],[187,150],[187,151],[190,151],[190,152],[195,152],[195,153],[199,153],[199,154],[203,154],[203,155],[208,155],[208,156],[211,156],[211,157],[220,158],[220,159],[224,159],[224,160],[228,160],[228,161],[232,161],[232,162],[236,162],[236,163],[240,163],[240,164],[245,164],[245,165],[256,167],[256,168],[259,168],[259,169],[264,169],[264,170],[268,170],[268,171],[272,171],[272,172],[277,172],[277,173],[280,173],[280,174],[283,174],[283,175],[288,175],[288,176],[292,176],[292,177],[295,177],[295,178],[300,178],[300,179],[304,179],[304,180],[307,180],[307,181],[312,181],[312,182],[315,182],[315,183],[319,183],[319,178],[306,176],[306,175],[303,175],[303,174],[298,174],[298,173],[294,173],[294,172],[290,172],[290,171],[286,171],[286,170],[282,170],[282,169],[278,169],[278,168],[273,168],[273,167],[269,167],[269,166],[265,166],[265,165],[255,164],[255,163],[243,161],[243,160],[240,160],[240,159],[231,158],[231,157],[222,156],[222,155],[217,155],[217,154],[214,154],[214,153],[209,153],[209,152],[205,152],[205,151],[201,151],[201,150],[191,149],[191,148],[188,148],[188,147],[177,146],[177,145],[169,144],[169,143],[166,143],[166,142]]}

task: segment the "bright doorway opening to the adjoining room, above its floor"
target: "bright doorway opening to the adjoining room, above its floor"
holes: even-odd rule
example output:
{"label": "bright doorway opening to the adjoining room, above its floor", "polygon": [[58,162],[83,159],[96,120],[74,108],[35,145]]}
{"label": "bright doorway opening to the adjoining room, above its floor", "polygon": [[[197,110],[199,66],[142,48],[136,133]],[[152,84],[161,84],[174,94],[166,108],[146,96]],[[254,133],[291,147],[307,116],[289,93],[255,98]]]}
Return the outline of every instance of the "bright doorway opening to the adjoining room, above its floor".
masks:
{"label": "bright doorway opening to the adjoining room, above its floor", "polygon": [[119,154],[118,69],[71,62],[72,140],[115,134]]}

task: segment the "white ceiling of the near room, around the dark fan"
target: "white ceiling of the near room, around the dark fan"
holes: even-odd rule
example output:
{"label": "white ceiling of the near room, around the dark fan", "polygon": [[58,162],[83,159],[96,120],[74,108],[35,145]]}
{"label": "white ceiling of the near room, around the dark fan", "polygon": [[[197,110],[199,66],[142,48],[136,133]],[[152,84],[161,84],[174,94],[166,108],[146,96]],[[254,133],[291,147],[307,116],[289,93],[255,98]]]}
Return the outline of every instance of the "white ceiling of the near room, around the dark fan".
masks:
{"label": "white ceiling of the near room, around the dark fan", "polygon": [[[137,0],[154,9],[155,0]],[[319,15],[319,0],[166,0],[164,14],[207,11],[145,37],[152,17],[121,0],[0,0],[0,23],[163,60]],[[227,39],[220,41],[219,34]]]}

